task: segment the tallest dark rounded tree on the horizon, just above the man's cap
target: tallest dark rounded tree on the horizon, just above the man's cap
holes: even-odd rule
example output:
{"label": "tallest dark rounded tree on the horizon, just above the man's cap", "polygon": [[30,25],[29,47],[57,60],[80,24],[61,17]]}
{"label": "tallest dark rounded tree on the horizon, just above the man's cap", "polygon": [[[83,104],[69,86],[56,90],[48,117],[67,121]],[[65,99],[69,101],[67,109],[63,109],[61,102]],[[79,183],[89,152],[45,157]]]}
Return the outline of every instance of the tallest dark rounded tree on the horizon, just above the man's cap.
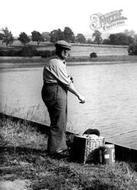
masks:
{"label": "tallest dark rounded tree on the horizon, just above the man's cap", "polygon": [[74,42],[75,41],[74,33],[69,27],[64,28],[64,39],[67,42]]}

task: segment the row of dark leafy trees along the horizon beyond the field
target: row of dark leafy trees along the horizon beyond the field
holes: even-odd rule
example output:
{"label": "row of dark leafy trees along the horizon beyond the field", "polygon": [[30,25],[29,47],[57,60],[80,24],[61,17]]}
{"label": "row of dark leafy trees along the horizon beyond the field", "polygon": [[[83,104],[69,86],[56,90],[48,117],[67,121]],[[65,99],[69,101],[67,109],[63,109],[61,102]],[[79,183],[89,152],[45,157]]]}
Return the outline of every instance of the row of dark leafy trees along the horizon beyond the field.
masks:
{"label": "row of dark leafy trees along the horizon beyond the field", "polygon": [[[137,43],[137,34],[131,30],[125,30],[121,33],[110,34],[108,38],[103,39],[102,33],[98,30],[95,30],[92,33],[92,37],[86,39],[82,33],[78,33],[76,36],[71,28],[65,27],[62,31],[61,29],[55,29],[51,32],[42,32],[32,31],[31,36],[28,36],[25,32],[21,32],[17,38],[23,45],[28,44],[30,41],[37,42],[37,45],[40,42],[53,42],[57,40],[65,40],[70,43],[88,43],[88,44],[111,44],[111,45],[130,45]],[[13,44],[15,37],[12,32],[9,31],[7,27],[2,28],[0,32],[0,40],[6,46]]]}

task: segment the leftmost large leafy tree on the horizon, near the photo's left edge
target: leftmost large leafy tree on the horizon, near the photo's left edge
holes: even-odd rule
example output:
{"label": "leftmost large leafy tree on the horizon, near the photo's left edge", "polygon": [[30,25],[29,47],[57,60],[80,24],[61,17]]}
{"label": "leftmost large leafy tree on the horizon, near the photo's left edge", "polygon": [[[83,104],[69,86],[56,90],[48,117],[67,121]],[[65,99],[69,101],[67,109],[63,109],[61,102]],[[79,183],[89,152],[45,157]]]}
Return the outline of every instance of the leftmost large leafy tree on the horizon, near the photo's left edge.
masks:
{"label": "leftmost large leafy tree on the horizon, near the photo's left edge", "polygon": [[12,33],[8,30],[8,28],[3,28],[3,37],[2,37],[2,43],[5,43],[6,46],[11,45],[14,41]]}

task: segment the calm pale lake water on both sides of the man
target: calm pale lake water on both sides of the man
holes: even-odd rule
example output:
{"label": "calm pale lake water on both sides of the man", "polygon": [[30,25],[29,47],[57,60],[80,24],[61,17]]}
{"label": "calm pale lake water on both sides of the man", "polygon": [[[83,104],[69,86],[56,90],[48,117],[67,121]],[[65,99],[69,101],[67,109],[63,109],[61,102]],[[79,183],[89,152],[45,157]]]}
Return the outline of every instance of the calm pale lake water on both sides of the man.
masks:
{"label": "calm pale lake water on both sides of the man", "polygon": [[[137,125],[137,64],[71,66],[85,104],[69,93],[68,129],[98,128],[107,138]],[[1,111],[49,124],[41,100],[42,68],[0,72]]]}

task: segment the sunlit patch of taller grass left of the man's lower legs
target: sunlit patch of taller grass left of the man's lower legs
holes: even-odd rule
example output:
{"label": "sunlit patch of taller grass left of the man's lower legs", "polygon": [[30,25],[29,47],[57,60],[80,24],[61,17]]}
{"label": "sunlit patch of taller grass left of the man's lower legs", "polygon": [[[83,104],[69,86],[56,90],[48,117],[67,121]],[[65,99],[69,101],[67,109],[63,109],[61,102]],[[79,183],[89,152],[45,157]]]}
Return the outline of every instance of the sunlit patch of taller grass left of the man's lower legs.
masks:
{"label": "sunlit patch of taller grass left of the man's lower legs", "polygon": [[31,147],[35,149],[46,149],[47,136],[40,134],[35,128],[18,121],[13,122],[10,119],[0,120],[0,144],[13,147]]}

